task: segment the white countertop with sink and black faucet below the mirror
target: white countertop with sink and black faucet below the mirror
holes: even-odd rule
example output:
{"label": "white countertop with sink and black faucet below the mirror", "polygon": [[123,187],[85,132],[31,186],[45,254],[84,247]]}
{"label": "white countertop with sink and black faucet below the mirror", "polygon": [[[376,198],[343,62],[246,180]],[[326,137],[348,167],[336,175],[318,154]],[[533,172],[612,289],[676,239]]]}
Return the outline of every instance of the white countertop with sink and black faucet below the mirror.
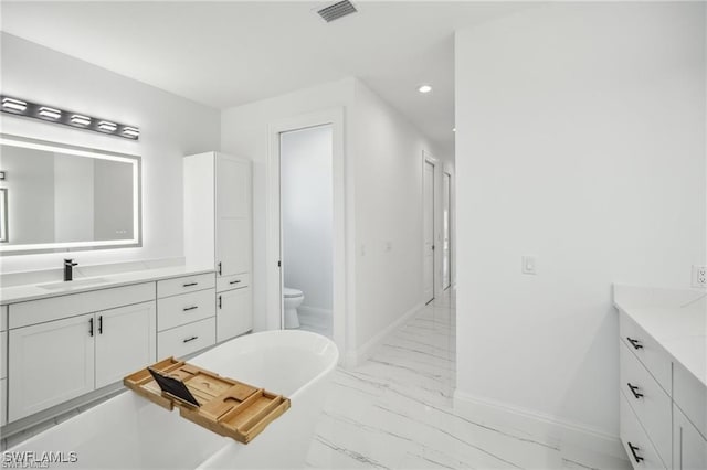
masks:
{"label": "white countertop with sink and black faucet below the mirror", "polygon": [[[190,266],[169,266],[156,269],[141,269],[129,273],[108,274],[95,277],[76,277],[74,281],[62,284],[59,288],[46,289],[42,286],[59,285],[59,282],[29,284],[0,288],[0,305],[24,302],[28,300],[44,299],[49,297],[64,296],[67,293],[85,292],[96,289],[127,286],[130,284],[150,282],[160,279],[169,279],[180,276],[192,276],[213,273],[211,268]],[[91,284],[98,279],[98,282]]]}

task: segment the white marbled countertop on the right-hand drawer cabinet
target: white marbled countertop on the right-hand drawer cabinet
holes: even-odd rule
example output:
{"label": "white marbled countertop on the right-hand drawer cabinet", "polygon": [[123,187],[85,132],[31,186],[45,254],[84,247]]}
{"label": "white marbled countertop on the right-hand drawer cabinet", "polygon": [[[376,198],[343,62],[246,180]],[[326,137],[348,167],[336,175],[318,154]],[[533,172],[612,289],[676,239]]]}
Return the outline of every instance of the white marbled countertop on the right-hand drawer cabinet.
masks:
{"label": "white marbled countertop on the right-hand drawer cabinet", "polygon": [[614,306],[707,386],[707,292],[614,285]]}

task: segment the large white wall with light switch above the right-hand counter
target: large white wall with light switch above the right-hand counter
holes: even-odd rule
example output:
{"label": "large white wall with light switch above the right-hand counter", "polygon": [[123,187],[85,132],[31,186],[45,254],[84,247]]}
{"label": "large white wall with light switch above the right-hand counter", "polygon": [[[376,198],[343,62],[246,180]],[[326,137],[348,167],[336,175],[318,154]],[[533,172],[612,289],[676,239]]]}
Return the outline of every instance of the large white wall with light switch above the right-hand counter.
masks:
{"label": "large white wall with light switch above the right-hand counter", "polygon": [[458,397],[618,436],[611,284],[688,287],[706,258],[704,8],[457,32]]}

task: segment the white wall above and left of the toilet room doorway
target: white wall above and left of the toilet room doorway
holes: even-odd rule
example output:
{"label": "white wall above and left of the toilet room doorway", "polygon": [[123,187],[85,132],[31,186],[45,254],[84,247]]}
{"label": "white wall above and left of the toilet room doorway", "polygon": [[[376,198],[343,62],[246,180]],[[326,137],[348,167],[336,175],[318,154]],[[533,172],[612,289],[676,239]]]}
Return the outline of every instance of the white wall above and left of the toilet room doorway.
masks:
{"label": "white wall above and left of the toilet room doorway", "polygon": [[[354,104],[354,79],[346,78],[276,96],[261,102],[224,109],[221,115],[221,150],[247,157],[253,161],[253,311],[254,330],[278,328],[279,317],[267,312],[267,157],[268,126],[281,119],[307,113],[345,108],[350,118]],[[350,138],[345,129],[346,152]]]}

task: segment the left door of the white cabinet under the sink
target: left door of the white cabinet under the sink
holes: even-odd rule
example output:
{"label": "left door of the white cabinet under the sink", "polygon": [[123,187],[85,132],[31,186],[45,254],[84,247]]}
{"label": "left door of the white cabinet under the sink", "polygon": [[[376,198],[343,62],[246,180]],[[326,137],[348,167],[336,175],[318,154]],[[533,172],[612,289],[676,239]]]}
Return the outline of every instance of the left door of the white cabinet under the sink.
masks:
{"label": "left door of the white cabinet under the sink", "polygon": [[94,314],[9,332],[10,421],[94,389]]}

